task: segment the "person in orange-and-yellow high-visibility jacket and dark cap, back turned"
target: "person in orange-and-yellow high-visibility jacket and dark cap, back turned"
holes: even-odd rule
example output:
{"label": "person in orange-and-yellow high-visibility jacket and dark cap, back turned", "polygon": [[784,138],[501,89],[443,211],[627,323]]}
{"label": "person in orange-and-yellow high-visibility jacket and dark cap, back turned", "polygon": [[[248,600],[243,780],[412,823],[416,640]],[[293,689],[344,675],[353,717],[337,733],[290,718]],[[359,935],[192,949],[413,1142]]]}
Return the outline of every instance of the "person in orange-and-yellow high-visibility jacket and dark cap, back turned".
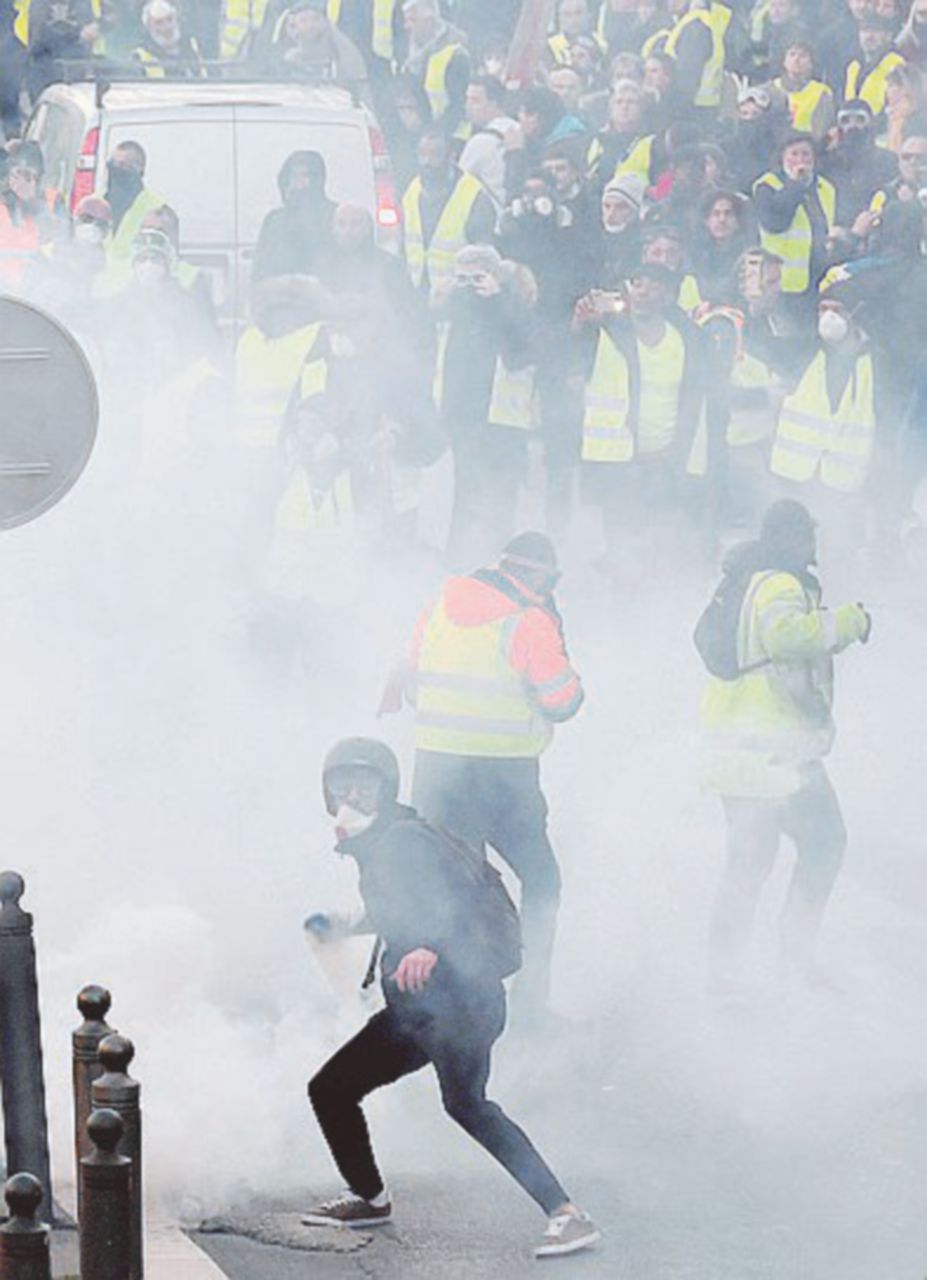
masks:
{"label": "person in orange-and-yellow high-visibility jacket and dark cap, back turned", "polygon": [[513,1009],[529,1024],[547,1010],[561,888],[539,756],[584,700],[554,604],[558,579],[551,540],[519,534],[496,568],[444,582],[410,654],[412,803],[475,847],[492,845],[519,877],[525,963]]}

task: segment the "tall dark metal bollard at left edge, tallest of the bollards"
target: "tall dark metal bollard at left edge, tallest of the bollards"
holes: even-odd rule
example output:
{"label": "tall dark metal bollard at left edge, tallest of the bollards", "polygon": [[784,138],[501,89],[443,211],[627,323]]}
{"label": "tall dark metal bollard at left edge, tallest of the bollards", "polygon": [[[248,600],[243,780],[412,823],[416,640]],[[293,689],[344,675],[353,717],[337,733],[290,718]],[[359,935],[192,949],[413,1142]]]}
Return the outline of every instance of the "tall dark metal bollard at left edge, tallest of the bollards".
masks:
{"label": "tall dark metal bollard at left edge, tallest of the bollards", "polygon": [[26,882],[17,872],[0,874],[0,1092],[6,1167],[38,1179],[40,1213],[51,1222],[36,948],[32,916],[19,906],[24,891]]}

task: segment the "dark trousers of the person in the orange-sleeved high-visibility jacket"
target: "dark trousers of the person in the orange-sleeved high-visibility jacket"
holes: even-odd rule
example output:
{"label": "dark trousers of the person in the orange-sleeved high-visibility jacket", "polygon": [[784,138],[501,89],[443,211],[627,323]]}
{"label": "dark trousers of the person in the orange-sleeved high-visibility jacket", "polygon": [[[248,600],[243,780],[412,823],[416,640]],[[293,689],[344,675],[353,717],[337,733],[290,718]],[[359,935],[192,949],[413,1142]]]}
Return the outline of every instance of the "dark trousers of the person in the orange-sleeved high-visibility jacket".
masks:
{"label": "dark trousers of the person in the orange-sleeved high-visibility jacket", "polygon": [[475,849],[492,845],[519,877],[525,963],[512,998],[520,1014],[539,1012],[551,991],[561,877],[538,760],[416,751],[412,804]]}

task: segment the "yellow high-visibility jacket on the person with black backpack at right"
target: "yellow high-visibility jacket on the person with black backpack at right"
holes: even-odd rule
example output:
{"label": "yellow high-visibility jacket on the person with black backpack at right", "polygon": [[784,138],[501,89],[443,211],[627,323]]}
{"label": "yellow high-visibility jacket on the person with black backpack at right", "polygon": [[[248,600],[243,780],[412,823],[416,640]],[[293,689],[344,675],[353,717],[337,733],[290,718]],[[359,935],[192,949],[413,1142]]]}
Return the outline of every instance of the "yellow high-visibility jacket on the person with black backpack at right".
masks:
{"label": "yellow high-visibility jacket on the person with black backpack at right", "polygon": [[[790,660],[764,662],[763,636],[780,630]],[[736,680],[708,681],[700,721],[704,783],[731,796],[775,797],[800,790],[807,765],[834,742],[834,616],[791,573],[754,573],[738,628]],[[758,666],[764,663],[763,666]]]}

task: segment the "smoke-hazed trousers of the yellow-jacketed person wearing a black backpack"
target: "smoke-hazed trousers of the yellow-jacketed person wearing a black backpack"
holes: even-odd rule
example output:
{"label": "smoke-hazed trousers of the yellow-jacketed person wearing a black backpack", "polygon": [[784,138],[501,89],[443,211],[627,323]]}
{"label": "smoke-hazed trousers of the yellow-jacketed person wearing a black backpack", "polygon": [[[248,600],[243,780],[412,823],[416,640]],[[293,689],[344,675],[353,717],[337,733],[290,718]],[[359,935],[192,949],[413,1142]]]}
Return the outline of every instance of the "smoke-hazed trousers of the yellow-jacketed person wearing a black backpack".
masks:
{"label": "smoke-hazed trousers of the yellow-jacketed person wearing a black backpack", "polygon": [[822,764],[781,800],[725,797],[727,864],[712,916],[712,966],[723,975],[746,947],[761,891],[782,836],[795,845],[795,869],[780,918],[782,959],[807,965],[846,847],[840,803]]}

